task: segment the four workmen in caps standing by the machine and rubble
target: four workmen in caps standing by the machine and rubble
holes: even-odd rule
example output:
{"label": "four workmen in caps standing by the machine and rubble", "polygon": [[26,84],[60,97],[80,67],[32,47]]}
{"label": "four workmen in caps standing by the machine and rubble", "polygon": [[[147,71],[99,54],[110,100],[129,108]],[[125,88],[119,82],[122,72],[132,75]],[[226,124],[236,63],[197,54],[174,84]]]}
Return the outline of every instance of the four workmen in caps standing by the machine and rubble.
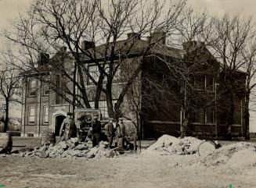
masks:
{"label": "four workmen in caps standing by the machine and rubble", "polygon": [[[69,140],[71,137],[79,138],[79,122],[74,122],[73,113],[67,112],[67,118],[63,120],[63,123],[59,130],[59,140]],[[122,118],[118,118],[115,122],[114,119],[110,118],[109,122],[105,125],[105,134],[108,140],[108,147],[111,148],[115,140],[115,145],[117,147],[124,146],[124,122]],[[92,127],[88,134],[92,135],[92,147],[99,144],[100,134],[101,134],[101,123],[98,120],[98,116],[94,115],[92,117]]]}

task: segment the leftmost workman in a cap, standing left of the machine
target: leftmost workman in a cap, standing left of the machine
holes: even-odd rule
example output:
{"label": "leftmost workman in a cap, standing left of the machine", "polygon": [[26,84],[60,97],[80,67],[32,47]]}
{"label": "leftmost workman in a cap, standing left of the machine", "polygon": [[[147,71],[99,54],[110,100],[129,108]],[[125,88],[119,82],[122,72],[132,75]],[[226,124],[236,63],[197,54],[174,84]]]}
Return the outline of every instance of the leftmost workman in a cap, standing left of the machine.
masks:
{"label": "leftmost workman in a cap, standing left of the machine", "polygon": [[63,120],[59,129],[59,141],[69,140],[70,137],[76,137],[76,126],[72,116],[72,112],[67,112],[67,118]]}

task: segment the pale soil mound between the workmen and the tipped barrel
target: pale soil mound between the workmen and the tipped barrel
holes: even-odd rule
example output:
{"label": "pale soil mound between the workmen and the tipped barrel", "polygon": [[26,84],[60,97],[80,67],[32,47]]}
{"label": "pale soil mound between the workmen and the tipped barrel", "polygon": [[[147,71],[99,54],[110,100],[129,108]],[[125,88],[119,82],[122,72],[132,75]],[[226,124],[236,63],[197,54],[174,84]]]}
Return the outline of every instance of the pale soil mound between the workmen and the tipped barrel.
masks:
{"label": "pale soil mound between the workmen and the tipped barrel", "polygon": [[143,151],[143,154],[196,154],[202,140],[195,137],[176,138],[163,135],[154,144]]}

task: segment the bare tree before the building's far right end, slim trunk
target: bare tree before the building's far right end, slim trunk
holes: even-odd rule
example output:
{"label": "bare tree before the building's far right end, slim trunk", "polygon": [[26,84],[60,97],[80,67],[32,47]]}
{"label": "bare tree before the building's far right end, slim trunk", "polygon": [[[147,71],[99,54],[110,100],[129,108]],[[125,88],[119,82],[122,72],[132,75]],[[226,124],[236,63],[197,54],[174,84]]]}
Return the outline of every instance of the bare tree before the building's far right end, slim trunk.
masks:
{"label": "bare tree before the building's far right end, slim trunk", "polygon": [[[245,90],[244,79],[240,78],[238,73],[246,65],[249,65],[247,71],[251,72],[250,61],[254,61],[254,49],[251,48],[252,50],[250,50],[250,46],[251,41],[254,41],[255,31],[251,19],[243,20],[240,16],[225,15],[221,18],[213,19],[213,23],[211,36],[209,37],[211,39],[209,47],[216,59],[222,63],[221,81],[223,87],[220,90],[227,98],[227,109],[225,109],[227,111],[225,121],[227,126],[226,137],[231,138],[235,97],[241,94],[242,90]],[[249,51],[247,51],[248,49]],[[249,64],[247,64],[248,61]],[[252,76],[251,74],[254,75],[254,73],[249,73],[249,77]],[[242,82],[240,82],[241,80]],[[250,80],[248,81],[249,83],[247,84],[251,85]],[[248,110],[246,111],[248,115]]]}

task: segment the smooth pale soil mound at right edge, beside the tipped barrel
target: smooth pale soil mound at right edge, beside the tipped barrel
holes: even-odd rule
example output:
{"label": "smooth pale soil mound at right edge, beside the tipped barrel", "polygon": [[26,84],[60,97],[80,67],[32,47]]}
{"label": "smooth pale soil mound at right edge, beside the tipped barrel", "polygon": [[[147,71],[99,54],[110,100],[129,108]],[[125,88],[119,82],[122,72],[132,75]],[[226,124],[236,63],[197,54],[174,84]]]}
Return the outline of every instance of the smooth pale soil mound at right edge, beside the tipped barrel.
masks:
{"label": "smooth pale soil mound at right edge, beside the tipped barrel", "polygon": [[211,154],[200,159],[206,166],[222,166],[224,168],[246,169],[256,167],[256,144],[240,142],[220,147]]}

